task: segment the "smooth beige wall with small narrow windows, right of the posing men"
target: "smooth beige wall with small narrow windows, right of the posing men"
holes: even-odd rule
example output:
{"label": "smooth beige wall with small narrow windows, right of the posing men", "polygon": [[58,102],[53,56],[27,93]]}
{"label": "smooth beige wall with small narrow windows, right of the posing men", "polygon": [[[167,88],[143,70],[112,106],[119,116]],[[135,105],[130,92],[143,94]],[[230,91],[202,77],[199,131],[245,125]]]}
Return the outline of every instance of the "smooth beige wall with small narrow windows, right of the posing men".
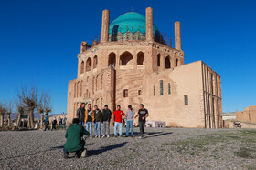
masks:
{"label": "smooth beige wall with small narrow windows, right of the posing men", "polygon": [[[148,76],[147,96],[144,101],[150,111],[148,119],[165,121],[167,126],[204,127],[204,117],[200,110],[200,68],[199,61]],[[160,80],[164,82],[164,95],[160,95]],[[170,95],[168,83],[171,84]],[[188,95],[188,105],[184,104],[184,95]]]}

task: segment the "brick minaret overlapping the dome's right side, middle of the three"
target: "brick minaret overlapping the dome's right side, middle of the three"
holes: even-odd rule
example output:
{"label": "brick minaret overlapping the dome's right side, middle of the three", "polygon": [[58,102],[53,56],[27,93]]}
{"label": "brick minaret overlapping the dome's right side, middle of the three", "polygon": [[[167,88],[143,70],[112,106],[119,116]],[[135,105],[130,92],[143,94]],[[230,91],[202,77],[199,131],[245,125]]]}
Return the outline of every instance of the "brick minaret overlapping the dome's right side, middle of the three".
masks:
{"label": "brick minaret overlapping the dome's right side, middle of the three", "polygon": [[145,38],[153,41],[153,9],[147,7],[145,10]]}

